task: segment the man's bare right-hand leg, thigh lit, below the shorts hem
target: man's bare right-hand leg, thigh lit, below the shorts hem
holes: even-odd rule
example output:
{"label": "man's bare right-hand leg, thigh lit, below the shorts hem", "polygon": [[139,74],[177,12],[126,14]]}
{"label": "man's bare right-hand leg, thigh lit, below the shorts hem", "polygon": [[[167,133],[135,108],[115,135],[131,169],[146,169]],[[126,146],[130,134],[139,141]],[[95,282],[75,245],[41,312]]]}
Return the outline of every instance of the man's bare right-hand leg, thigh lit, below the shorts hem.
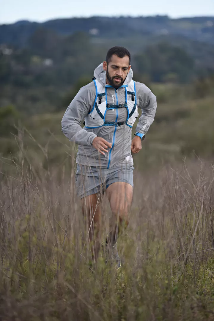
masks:
{"label": "man's bare right-hand leg, thigh lit, below the shorts hem", "polygon": [[111,211],[116,218],[115,226],[109,235],[110,243],[114,244],[122,226],[126,228],[129,224],[133,187],[128,183],[116,182],[107,188],[106,194],[110,202]]}

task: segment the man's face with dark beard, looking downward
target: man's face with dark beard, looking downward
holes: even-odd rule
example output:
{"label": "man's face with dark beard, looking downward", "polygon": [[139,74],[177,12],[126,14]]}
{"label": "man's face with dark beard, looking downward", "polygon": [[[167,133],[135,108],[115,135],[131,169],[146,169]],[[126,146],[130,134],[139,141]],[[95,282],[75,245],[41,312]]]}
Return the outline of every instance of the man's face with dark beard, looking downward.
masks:
{"label": "man's face with dark beard, looking downward", "polygon": [[130,68],[128,56],[119,58],[117,55],[112,55],[108,64],[106,61],[103,63],[103,69],[106,70],[106,83],[115,88],[122,86]]}

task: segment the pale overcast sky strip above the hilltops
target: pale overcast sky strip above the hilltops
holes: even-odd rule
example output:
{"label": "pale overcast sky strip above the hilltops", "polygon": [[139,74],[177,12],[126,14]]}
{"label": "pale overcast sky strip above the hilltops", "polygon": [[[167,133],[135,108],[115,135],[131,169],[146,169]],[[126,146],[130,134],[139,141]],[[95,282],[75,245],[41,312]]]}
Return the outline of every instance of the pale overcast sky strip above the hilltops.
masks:
{"label": "pale overcast sky strip above the hilltops", "polygon": [[0,24],[18,20],[43,22],[56,18],[169,15],[172,18],[214,16],[214,0],[0,0]]}

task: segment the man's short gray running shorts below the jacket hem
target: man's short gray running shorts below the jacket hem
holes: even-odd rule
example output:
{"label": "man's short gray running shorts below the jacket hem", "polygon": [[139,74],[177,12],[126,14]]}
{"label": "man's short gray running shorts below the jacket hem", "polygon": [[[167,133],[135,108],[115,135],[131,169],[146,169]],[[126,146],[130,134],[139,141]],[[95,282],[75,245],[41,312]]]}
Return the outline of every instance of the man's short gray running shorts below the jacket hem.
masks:
{"label": "man's short gray running shorts below the jacket hem", "polygon": [[84,196],[104,193],[109,185],[115,182],[125,182],[133,187],[133,166],[115,166],[108,169],[100,169],[92,166],[77,164],[76,188],[77,195]]}

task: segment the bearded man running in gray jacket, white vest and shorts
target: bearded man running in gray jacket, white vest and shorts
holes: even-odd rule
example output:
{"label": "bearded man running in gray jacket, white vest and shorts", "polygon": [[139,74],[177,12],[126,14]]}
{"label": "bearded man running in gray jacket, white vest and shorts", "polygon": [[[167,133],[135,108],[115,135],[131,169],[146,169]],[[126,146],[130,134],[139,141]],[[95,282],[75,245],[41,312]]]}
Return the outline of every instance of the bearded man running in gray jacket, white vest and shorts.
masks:
{"label": "bearded man running in gray jacket, white vest and shorts", "polygon": [[[99,252],[101,199],[104,192],[115,215],[115,227],[106,240],[116,266],[121,266],[116,240],[120,228],[129,223],[133,198],[132,153],[141,150],[141,141],[152,124],[156,97],[148,87],[133,81],[131,56],[123,47],[113,47],[94,71],[93,81],[82,87],[62,119],[62,131],[79,145],[76,188],[82,212],[89,224],[93,258]],[[132,126],[142,113],[132,139]],[[84,127],[81,122],[84,121]]]}

